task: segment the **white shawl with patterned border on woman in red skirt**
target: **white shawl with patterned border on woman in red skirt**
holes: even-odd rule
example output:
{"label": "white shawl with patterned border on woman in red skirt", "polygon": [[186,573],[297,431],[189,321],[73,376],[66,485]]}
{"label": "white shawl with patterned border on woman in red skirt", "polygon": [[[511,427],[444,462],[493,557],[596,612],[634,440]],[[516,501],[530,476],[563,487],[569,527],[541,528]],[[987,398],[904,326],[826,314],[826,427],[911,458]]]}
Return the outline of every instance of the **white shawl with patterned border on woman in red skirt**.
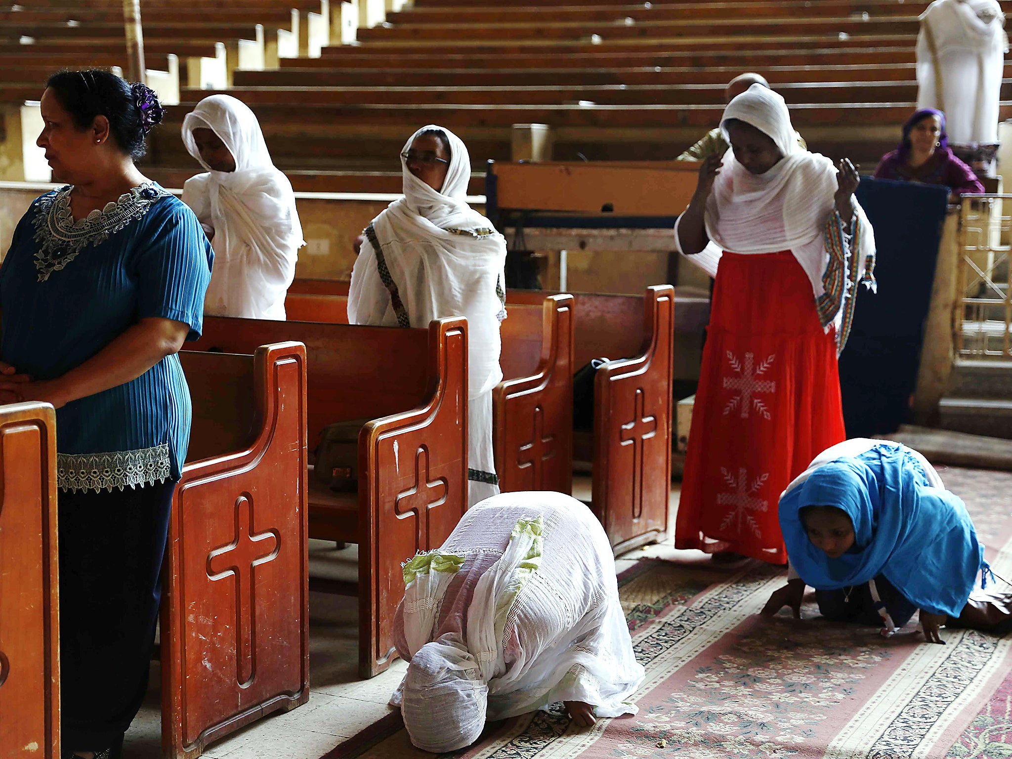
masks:
{"label": "white shawl with patterned border on woman in red skirt", "polygon": [[734,253],[791,251],[812,282],[823,326],[836,326],[842,350],[846,330],[841,328],[849,328],[843,324],[844,307],[852,300],[854,282],[870,277],[875,250],[871,225],[853,199],[855,233],[849,244],[839,241],[842,260],[834,260],[826,244],[827,225],[835,214],[833,162],[798,147],[787,104],[761,84],[753,84],[725,109],[721,131],[729,143],[726,124],[731,118],[767,135],[783,158],[757,175],[729,150],[706,200],[706,234],[722,250]]}

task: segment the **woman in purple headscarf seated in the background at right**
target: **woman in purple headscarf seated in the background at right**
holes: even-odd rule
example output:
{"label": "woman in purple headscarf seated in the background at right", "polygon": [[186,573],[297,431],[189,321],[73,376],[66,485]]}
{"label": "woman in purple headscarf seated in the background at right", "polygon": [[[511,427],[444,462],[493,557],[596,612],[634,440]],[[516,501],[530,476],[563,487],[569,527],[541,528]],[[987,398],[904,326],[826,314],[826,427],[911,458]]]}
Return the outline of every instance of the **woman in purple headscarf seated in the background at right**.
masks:
{"label": "woman in purple headscarf seated in the background at right", "polygon": [[974,170],[952,155],[945,136],[945,114],[922,108],[903,125],[903,142],[882,156],[875,169],[878,179],[899,179],[922,184],[944,184],[955,202],[959,195],[984,192]]}

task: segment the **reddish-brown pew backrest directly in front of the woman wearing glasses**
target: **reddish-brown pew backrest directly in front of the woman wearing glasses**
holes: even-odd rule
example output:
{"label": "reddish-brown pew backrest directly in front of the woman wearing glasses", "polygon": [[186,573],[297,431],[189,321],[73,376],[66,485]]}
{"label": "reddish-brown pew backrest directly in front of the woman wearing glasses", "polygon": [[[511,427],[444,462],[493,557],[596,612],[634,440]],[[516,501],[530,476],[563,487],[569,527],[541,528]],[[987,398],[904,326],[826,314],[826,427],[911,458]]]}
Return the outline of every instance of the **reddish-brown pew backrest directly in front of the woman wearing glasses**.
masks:
{"label": "reddish-brown pew backrest directly in front of the woman wearing glasses", "polygon": [[311,449],[331,422],[417,408],[437,380],[430,374],[427,329],[205,317],[203,336],[188,347],[252,353],[289,340],[306,345]]}

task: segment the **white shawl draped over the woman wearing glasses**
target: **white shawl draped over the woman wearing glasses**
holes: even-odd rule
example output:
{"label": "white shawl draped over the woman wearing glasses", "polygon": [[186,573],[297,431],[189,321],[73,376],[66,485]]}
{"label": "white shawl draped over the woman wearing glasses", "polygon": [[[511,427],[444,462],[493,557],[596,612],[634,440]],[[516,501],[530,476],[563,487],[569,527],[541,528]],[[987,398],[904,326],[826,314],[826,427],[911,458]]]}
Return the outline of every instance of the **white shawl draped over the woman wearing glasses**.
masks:
{"label": "white shawl draped over the woman wearing glasses", "polygon": [[[426,327],[432,319],[449,316],[468,318],[468,397],[474,400],[490,392],[503,376],[499,322],[506,318],[506,240],[468,205],[471,157],[456,135],[428,124],[411,136],[402,153],[431,130],[442,132],[449,143],[450,162],[442,189],[436,192],[412,174],[402,156],[404,197],[372,220],[372,229],[410,326]],[[359,258],[376,254],[365,240]],[[353,274],[349,321],[383,323],[390,298],[370,299],[356,284]]]}

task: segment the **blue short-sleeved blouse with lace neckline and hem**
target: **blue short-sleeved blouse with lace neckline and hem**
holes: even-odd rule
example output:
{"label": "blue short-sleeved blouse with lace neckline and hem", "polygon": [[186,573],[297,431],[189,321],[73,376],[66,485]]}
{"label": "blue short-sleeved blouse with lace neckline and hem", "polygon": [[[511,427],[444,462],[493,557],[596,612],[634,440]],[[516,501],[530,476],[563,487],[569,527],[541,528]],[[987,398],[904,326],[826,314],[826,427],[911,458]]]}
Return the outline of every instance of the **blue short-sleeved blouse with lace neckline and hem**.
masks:
{"label": "blue short-sleeved blouse with lace neckline and hem", "polygon": [[[71,187],[37,198],[0,266],[0,358],[36,380],[80,365],[141,319],[200,335],[214,253],[193,213],[154,182],[74,221]],[[99,491],[176,480],[190,399],[177,355],[57,411],[58,484]]]}

